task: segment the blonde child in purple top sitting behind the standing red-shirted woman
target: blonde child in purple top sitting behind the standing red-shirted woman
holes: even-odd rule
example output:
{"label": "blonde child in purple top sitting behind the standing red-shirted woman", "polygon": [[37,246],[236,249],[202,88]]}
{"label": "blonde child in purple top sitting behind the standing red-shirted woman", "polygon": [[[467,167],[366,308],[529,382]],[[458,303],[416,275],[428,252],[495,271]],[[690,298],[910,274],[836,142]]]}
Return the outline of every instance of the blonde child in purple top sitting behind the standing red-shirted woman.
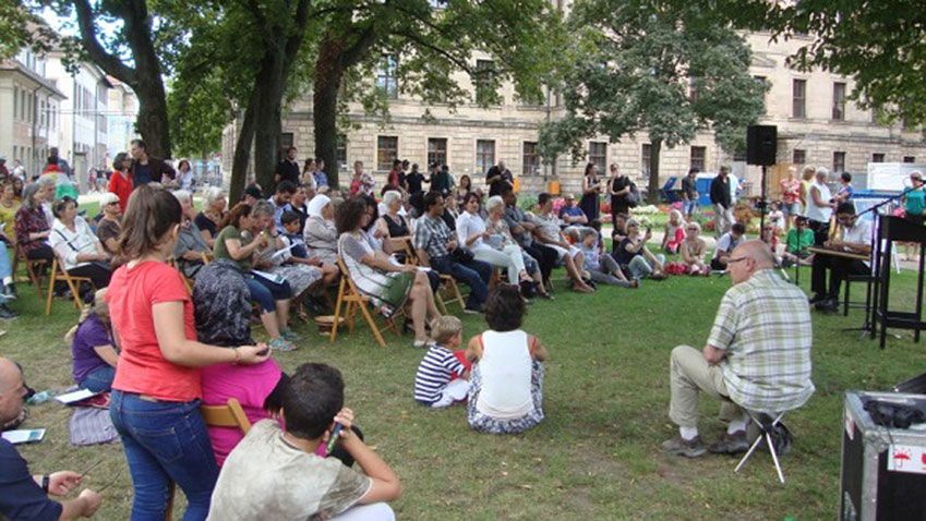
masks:
{"label": "blonde child in purple top sitting behind the standing red-shirted woman", "polygon": [[84,310],[77,325],[64,336],[71,344],[74,384],[94,392],[112,388],[119,353],[106,306],[106,288],[97,290],[93,304]]}

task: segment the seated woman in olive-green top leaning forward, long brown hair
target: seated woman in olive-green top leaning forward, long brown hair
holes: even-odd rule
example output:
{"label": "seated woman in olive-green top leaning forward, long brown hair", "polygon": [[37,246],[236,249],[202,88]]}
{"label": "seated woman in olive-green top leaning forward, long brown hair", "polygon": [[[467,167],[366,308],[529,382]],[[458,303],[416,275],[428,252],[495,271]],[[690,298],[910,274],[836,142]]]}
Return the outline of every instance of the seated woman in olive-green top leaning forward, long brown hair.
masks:
{"label": "seated woman in olive-green top leaning forward, long brown hair", "polygon": [[289,301],[292,289],[289,283],[279,278],[270,280],[267,277],[254,275],[251,268],[256,252],[266,247],[269,242],[266,233],[252,232],[254,228],[251,207],[238,203],[221,221],[221,231],[216,237],[215,257],[234,260],[251,290],[251,301],[256,302],[261,311],[261,323],[270,337],[272,349],[292,351],[296,346],[284,338],[289,318]]}

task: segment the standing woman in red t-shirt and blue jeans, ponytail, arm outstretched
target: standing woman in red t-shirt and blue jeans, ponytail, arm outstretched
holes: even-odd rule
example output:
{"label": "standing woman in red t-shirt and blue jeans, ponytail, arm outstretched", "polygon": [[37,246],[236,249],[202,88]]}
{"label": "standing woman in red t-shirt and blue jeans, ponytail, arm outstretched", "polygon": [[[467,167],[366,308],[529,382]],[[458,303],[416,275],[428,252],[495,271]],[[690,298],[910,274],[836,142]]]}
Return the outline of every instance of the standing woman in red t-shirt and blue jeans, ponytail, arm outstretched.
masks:
{"label": "standing woman in red t-shirt and blue jeans, ponytail, arm outstretched", "polygon": [[265,344],[218,348],[196,341],[193,305],[180,274],[166,264],[180,230],[180,203],[143,185],[129,198],[119,246],[128,262],[106,294],[122,352],[109,413],[134,485],[133,520],[161,520],[168,486],[187,496],[184,520],[205,520],[218,467],[200,414],[200,367],[256,364]]}

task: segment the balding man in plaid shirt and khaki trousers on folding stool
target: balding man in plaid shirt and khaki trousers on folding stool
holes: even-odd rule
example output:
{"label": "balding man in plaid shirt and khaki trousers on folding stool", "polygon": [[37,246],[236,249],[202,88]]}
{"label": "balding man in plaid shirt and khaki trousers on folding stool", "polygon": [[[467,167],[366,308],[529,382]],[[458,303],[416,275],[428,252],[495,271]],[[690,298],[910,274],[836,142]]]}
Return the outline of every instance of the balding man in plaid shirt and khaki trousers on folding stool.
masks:
{"label": "balding man in plaid shirt and khaki trousers on folding stool", "polygon": [[[703,353],[689,346],[672,350],[669,417],[680,435],[666,452],[696,458],[708,450],[745,452],[746,411],[777,413],[802,407],[810,381],[810,310],[804,293],[782,280],[771,250],[758,240],[737,246],[726,263],[733,287],[717,312]],[[698,392],[723,401],[726,435],[709,448],[698,435]]]}

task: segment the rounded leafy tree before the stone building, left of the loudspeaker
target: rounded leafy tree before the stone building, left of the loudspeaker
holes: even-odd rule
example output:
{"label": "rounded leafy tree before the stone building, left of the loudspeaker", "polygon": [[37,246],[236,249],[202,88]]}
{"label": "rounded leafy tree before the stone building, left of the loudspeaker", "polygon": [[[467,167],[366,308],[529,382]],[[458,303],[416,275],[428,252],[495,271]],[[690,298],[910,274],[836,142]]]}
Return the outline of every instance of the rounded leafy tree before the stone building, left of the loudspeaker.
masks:
{"label": "rounded leafy tree before the stone building, left of the loudspeaker", "polygon": [[651,142],[649,195],[659,187],[662,145],[714,132],[729,152],[745,148],[745,130],[763,111],[768,86],[749,74],[751,53],[715,13],[672,1],[587,0],[569,16],[575,40],[557,73],[566,114],[541,130],[550,161],[603,135],[637,132]]}

